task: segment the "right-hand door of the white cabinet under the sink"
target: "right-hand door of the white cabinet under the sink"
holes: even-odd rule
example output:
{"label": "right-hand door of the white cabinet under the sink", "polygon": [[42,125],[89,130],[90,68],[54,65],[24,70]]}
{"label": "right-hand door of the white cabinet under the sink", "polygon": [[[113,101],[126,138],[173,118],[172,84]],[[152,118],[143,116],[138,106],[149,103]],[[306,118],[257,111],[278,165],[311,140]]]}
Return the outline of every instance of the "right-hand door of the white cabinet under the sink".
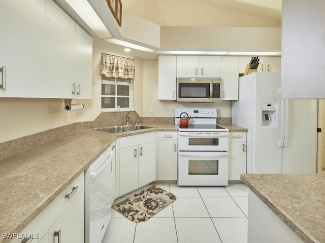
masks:
{"label": "right-hand door of the white cabinet under the sink", "polygon": [[154,143],[139,145],[139,185],[154,181]]}

